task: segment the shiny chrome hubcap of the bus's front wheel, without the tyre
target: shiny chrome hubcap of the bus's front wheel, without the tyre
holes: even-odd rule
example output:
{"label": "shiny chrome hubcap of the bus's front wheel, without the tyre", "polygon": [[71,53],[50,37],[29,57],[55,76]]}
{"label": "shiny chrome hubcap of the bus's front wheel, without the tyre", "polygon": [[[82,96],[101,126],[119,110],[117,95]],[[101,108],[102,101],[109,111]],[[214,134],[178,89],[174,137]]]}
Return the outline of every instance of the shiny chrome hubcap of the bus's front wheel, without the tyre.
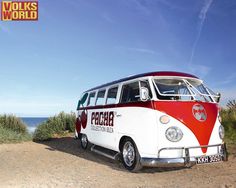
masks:
{"label": "shiny chrome hubcap of the bus's front wheel, without the tyre", "polygon": [[123,159],[127,166],[132,166],[135,159],[135,150],[131,142],[126,142],[123,147]]}

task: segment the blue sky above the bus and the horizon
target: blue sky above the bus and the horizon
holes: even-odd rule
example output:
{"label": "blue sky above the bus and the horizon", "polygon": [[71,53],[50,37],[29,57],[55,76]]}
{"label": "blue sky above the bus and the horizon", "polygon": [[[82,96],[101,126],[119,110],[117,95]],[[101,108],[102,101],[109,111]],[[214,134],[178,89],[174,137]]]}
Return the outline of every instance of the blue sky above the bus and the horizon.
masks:
{"label": "blue sky above the bus and the horizon", "polygon": [[235,20],[235,0],[39,0],[38,21],[0,21],[0,114],[75,112],[83,91],[150,71],[194,74],[224,106]]}

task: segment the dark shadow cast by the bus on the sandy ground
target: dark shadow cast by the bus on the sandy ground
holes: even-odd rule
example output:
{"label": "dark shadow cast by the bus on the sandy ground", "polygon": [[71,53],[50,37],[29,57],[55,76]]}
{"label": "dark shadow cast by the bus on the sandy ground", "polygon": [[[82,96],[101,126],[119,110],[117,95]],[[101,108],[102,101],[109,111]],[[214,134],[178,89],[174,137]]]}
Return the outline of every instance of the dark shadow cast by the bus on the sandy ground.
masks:
{"label": "dark shadow cast by the bus on the sandy ground", "polygon": [[[80,141],[74,139],[73,137],[62,137],[62,138],[53,138],[49,141],[36,142],[39,144],[46,145],[45,149],[50,151],[60,151],[75,155],[77,157],[93,161],[102,165],[109,166],[114,170],[119,170],[123,172],[128,172],[122,165],[121,160],[112,160],[104,156],[98,155],[94,152],[91,152],[89,149],[84,150],[80,146]],[[169,171],[182,170],[186,168],[147,168],[144,167],[138,173],[162,173]]]}

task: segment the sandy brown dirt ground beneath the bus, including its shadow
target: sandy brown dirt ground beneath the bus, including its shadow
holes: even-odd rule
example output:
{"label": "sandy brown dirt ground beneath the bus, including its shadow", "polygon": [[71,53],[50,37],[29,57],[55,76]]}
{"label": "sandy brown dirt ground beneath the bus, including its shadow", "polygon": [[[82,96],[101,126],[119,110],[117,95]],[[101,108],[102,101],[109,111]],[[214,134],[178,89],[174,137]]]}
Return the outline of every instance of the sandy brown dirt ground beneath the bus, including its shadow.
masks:
{"label": "sandy brown dirt ground beneath the bus, including its shadow", "polygon": [[[234,150],[235,148],[233,148]],[[71,137],[0,145],[0,187],[236,187],[236,153],[228,162],[127,172],[118,161],[83,151]]]}

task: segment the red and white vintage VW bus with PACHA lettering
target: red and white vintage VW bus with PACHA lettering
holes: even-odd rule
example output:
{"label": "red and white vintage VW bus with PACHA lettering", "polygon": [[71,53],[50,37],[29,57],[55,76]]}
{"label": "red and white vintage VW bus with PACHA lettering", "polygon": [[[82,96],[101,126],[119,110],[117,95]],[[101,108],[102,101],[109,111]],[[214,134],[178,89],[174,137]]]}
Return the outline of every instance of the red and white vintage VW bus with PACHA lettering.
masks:
{"label": "red and white vintage VW bus with PACHA lettering", "polygon": [[139,74],[84,92],[75,134],[130,171],[219,162],[227,157],[218,100],[194,75]]}

